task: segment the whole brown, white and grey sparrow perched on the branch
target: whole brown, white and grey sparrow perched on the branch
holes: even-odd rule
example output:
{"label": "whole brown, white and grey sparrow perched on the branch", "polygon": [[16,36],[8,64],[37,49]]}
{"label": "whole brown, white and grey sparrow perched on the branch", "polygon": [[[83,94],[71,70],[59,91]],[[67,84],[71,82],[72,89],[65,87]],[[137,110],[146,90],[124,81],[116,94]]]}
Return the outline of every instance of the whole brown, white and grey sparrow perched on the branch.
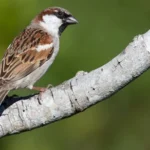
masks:
{"label": "whole brown, white and grey sparrow perched on the branch", "polygon": [[0,64],[0,104],[10,90],[34,87],[59,51],[59,37],[68,25],[78,23],[63,8],[52,7],[37,15],[7,48]]}

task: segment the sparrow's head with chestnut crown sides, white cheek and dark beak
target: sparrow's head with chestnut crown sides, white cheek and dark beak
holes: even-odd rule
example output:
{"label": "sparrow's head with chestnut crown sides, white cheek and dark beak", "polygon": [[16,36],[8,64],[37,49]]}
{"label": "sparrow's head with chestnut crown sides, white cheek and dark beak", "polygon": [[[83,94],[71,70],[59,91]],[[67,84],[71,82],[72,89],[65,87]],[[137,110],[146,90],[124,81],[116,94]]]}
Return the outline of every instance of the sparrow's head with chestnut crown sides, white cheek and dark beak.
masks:
{"label": "sparrow's head with chestnut crown sides, white cheek and dark beak", "polygon": [[51,7],[43,10],[32,23],[42,26],[52,35],[61,35],[68,25],[77,24],[78,21],[64,8]]}

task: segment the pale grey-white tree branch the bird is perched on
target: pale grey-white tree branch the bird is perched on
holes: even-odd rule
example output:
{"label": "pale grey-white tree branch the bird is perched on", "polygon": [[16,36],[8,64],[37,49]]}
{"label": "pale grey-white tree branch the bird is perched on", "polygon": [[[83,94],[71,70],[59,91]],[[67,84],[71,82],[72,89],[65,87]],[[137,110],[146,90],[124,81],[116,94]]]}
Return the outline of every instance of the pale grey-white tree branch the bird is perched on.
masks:
{"label": "pale grey-white tree branch the bird is perched on", "polygon": [[41,95],[8,98],[0,107],[0,137],[32,130],[81,112],[110,97],[150,67],[150,31],[134,38],[104,66]]}

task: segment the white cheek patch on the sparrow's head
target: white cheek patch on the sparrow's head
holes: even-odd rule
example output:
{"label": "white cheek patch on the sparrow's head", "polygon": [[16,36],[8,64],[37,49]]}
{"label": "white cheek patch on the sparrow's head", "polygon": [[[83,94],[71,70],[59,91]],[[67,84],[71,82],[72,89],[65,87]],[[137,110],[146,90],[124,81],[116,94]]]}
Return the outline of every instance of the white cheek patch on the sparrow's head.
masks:
{"label": "white cheek patch on the sparrow's head", "polygon": [[40,25],[44,27],[50,34],[58,34],[59,27],[62,25],[62,20],[55,15],[45,15],[43,16],[43,21]]}

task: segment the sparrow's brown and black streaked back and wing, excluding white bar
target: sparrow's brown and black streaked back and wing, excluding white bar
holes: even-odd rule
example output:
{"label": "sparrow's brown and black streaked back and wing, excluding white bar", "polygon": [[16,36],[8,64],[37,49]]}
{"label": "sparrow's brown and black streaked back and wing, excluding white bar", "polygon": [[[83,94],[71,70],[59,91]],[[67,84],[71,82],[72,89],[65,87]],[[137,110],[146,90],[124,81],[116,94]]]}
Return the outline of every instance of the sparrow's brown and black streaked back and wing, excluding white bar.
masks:
{"label": "sparrow's brown and black streaked back and wing, excluding white bar", "polygon": [[[26,30],[28,34],[26,34],[26,31],[23,31],[7,49],[0,65],[1,80],[16,81],[24,78],[51,57],[53,47],[40,52],[36,50],[36,47],[38,45],[51,44],[53,42],[52,38],[42,30]],[[28,39],[26,36],[28,36]],[[18,41],[20,41],[19,44]]]}

